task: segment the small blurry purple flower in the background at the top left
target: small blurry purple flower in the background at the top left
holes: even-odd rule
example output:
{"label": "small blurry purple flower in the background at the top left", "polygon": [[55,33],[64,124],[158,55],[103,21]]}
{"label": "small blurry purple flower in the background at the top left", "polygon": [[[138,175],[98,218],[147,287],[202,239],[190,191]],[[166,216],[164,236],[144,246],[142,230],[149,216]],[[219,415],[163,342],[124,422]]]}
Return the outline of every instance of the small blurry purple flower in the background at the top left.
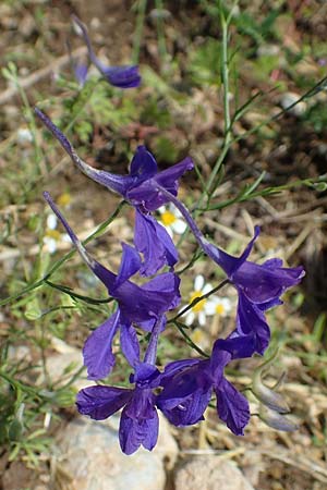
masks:
{"label": "small blurry purple flower in the background at the top left", "polygon": [[[85,24],[83,24],[83,22],[80,21],[76,15],[72,15],[72,20],[81,30],[82,37],[87,47],[88,58],[90,62],[99,70],[107,82],[109,82],[110,85],[119,88],[138,87],[138,85],[141,84],[138,66],[105,66],[94,53]],[[83,85],[86,79],[87,68],[83,64],[75,64],[74,72],[77,81]]]}

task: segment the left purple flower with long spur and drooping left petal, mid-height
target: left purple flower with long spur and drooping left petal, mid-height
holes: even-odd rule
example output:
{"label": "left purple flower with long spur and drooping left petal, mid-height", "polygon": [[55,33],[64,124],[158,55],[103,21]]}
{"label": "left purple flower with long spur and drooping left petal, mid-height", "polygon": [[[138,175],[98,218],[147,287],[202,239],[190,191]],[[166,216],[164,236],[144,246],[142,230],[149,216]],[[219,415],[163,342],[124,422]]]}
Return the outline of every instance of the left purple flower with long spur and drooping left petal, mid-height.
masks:
{"label": "left purple flower with long spur and drooping left petal, mid-height", "polygon": [[[65,221],[48,193],[45,199],[65,228],[73,245],[97,278],[106,285],[109,294],[118,302],[118,310],[98,327],[87,339],[83,355],[89,379],[105,378],[113,367],[112,340],[121,328],[121,343],[128,344],[124,332],[136,323],[143,330],[152,331],[154,324],[166,311],[180,303],[180,279],[172,272],[161,273],[138,286],[130,281],[141,268],[138,253],[130,245],[122,244],[123,254],[118,274],[106,269],[89,256]],[[162,328],[165,327],[165,322]]]}

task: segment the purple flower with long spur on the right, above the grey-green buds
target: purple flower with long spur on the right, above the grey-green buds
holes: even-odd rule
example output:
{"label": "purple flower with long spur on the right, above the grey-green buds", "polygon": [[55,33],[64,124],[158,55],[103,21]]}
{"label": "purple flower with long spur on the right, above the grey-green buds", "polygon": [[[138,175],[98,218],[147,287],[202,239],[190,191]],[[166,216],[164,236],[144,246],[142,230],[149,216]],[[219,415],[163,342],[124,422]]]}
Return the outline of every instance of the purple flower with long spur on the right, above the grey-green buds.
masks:
{"label": "purple flower with long spur on the right, above the grey-green buds", "polygon": [[154,184],[155,189],[175,205],[199,246],[221,267],[239,293],[237,328],[228,339],[220,340],[219,345],[234,357],[244,357],[245,353],[246,356],[255,352],[264,354],[270,339],[270,330],[264,313],[272,306],[280,305],[281,294],[299,284],[305,274],[303,267],[283,268],[282,260],[278,258],[266,260],[262,265],[247,260],[259,234],[258,226],[255,226],[254,237],[240,257],[227,254],[204,237],[187,209],[174,195],[160,185]]}

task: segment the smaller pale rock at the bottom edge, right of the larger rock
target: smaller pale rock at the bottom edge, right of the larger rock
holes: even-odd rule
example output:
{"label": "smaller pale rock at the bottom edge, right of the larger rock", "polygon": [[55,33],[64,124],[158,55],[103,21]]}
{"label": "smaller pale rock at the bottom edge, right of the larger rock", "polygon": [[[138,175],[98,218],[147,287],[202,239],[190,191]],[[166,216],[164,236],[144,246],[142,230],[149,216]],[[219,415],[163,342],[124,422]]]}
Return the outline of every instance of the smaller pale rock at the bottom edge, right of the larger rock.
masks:
{"label": "smaller pale rock at the bottom edge, right of the larger rock", "polygon": [[175,490],[254,490],[242,471],[219,456],[196,456],[175,473]]}

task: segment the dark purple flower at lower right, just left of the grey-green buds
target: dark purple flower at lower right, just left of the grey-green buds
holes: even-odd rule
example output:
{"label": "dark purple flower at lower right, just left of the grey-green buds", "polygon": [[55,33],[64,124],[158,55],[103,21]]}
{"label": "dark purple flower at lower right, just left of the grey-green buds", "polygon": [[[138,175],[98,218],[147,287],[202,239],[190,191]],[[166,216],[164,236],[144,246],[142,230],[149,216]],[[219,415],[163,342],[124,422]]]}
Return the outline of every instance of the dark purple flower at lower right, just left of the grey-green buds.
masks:
{"label": "dark purple flower at lower right, just left of the grey-green buds", "polygon": [[157,406],[171,424],[187,426],[202,420],[214,391],[219,418],[233,433],[243,434],[250,420],[250,408],[245,396],[223,376],[225,366],[231,358],[231,354],[216,342],[209,359],[177,360],[166,367]]}

